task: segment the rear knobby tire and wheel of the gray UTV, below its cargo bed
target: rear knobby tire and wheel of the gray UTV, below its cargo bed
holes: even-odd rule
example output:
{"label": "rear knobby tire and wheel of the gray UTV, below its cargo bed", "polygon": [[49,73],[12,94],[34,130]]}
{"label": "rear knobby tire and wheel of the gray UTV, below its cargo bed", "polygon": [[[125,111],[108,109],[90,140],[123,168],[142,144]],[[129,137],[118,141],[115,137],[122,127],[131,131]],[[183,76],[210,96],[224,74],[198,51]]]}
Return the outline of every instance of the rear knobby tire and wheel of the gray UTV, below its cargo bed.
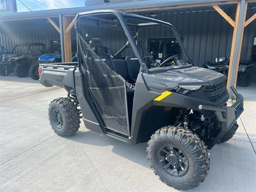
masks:
{"label": "rear knobby tire and wheel of the gray UTV, below its cargo bed", "polygon": [[53,131],[61,137],[75,134],[80,127],[79,110],[69,98],[51,101],[48,115]]}

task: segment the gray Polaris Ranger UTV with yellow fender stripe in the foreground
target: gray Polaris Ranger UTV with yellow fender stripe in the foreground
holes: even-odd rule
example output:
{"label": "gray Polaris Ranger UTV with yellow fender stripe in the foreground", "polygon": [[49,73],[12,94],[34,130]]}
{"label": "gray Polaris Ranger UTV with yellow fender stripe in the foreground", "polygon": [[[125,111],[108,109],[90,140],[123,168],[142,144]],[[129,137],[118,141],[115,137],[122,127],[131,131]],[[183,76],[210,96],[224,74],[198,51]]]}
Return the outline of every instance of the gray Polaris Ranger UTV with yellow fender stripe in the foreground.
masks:
{"label": "gray Polaris Ranger UTV with yellow fender stripe in the foreground", "polygon": [[[209,172],[208,149],[238,127],[242,95],[232,87],[236,102],[228,107],[226,76],[195,67],[170,23],[99,10],[78,14],[76,30],[78,63],[38,69],[44,86],[68,92],[50,103],[55,133],[73,135],[82,118],[87,129],[131,145],[147,141],[150,166],[166,185],[198,186]],[[154,60],[145,48],[149,30],[175,37],[181,53]]]}

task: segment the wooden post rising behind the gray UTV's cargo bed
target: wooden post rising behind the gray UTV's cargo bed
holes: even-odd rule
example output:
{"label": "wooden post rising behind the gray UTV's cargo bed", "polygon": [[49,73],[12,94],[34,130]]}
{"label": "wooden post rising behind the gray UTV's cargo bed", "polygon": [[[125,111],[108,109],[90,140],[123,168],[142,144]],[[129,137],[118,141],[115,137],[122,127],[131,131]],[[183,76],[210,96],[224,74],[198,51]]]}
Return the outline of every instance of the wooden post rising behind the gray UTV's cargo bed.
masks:
{"label": "wooden post rising behind the gray UTV's cargo bed", "polygon": [[[68,26],[70,25],[70,17],[62,17],[63,19],[63,31],[66,31]],[[64,33],[64,52],[65,52],[65,62],[71,62],[71,33]]]}

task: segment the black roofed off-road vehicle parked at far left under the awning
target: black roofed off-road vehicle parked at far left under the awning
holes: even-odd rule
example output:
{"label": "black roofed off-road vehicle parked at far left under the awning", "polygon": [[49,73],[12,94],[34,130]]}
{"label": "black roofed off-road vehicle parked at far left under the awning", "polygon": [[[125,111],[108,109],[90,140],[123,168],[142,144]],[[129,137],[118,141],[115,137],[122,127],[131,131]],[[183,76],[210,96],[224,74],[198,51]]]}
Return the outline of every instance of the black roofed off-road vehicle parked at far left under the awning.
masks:
{"label": "black roofed off-road vehicle parked at far left under the awning", "polygon": [[14,72],[17,77],[38,79],[38,56],[45,52],[43,43],[20,43],[11,53],[2,54],[0,75],[7,76]]}

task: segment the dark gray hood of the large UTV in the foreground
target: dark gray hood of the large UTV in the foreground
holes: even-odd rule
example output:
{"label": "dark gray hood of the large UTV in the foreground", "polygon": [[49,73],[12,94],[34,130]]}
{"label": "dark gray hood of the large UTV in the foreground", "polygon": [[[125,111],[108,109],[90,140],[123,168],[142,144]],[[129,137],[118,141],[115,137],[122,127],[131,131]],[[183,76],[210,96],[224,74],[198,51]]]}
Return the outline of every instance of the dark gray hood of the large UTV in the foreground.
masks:
{"label": "dark gray hood of the large UTV in the foreground", "polygon": [[[150,71],[152,72],[152,71]],[[153,69],[153,73],[143,74],[149,87],[171,90],[178,85],[215,85],[226,81],[226,76],[201,67],[180,67]]]}

